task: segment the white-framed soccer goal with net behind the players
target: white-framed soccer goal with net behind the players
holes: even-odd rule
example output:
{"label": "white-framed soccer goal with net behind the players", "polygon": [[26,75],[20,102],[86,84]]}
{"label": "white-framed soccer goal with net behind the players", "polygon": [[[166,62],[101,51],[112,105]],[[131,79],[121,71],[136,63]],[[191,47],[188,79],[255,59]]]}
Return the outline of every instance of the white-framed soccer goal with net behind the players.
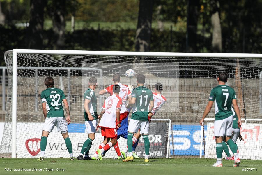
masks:
{"label": "white-framed soccer goal with net behind the players", "polygon": [[[76,50],[6,51],[8,94],[1,157],[40,157],[40,139],[44,116],[40,94],[46,89],[44,79],[52,76],[55,87],[65,92],[69,101],[71,124],[68,132],[73,153],[79,155],[87,139],[84,125],[83,95],[91,77],[98,79],[95,95],[98,114],[109,96],[98,92],[114,84],[112,75],[121,75],[120,83],[136,86],[136,77],[127,78],[133,69],[146,76],[145,86],[154,91],[162,83],[162,95],[167,102],[153,116],[150,123],[150,158],[205,157],[215,158],[213,138],[214,108],[204,126],[199,120],[208,103],[210,90],[217,85],[220,71],[229,75],[227,85],[236,91],[243,120],[237,141],[241,158],[262,159],[262,54],[225,53],[154,53],[107,52]],[[66,115],[66,114],[65,114]],[[131,113],[128,118],[131,118]],[[103,140],[100,131],[90,149],[90,155]],[[127,140],[118,140],[123,150]],[[144,157],[144,141],[139,139],[136,153]],[[116,156],[111,148],[106,158]],[[68,157],[64,139],[56,128],[49,134],[45,157]]]}

